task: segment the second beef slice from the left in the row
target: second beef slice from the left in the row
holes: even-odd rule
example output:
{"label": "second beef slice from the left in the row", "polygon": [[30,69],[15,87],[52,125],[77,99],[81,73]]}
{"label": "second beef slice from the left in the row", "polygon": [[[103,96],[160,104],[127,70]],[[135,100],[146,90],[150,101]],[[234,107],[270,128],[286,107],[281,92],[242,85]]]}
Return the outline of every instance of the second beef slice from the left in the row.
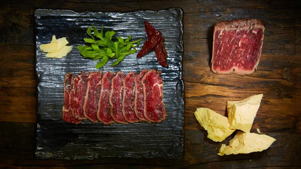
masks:
{"label": "second beef slice from the left in the row", "polygon": [[88,71],[82,71],[74,79],[74,115],[78,119],[86,119],[84,116],[84,101],[87,90]]}

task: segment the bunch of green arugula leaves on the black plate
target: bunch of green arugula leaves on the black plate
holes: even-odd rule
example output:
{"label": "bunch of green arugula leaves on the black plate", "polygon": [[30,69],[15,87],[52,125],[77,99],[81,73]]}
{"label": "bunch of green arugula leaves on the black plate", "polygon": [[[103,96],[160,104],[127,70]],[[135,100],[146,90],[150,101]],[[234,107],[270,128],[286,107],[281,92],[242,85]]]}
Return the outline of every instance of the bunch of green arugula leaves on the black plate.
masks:
{"label": "bunch of green arugula leaves on the black plate", "polygon": [[126,55],[135,53],[135,47],[140,45],[140,41],[142,40],[131,41],[130,35],[126,39],[117,37],[118,41],[114,42],[112,41],[112,36],[115,35],[114,31],[107,31],[103,36],[103,26],[101,27],[101,32],[98,32],[94,25],[88,28],[87,34],[91,38],[84,38],[84,41],[89,43],[89,45],[78,46],[77,49],[83,58],[100,60],[95,66],[96,69],[103,67],[109,58],[117,59],[111,66],[117,65]]}

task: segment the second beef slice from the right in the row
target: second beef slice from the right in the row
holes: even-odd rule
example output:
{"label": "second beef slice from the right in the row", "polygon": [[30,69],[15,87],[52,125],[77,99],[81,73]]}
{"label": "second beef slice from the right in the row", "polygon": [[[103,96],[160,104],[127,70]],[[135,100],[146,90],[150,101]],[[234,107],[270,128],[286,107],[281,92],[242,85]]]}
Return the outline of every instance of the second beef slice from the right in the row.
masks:
{"label": "second beef slice from the right in the row", "polygon": [[143,86],[141,80],[148,70],[143,69],[138,75],[135,76],[135,99],[134,99],[134,111],[136,116],[142,120],[147,121],[144,117],[144,95]]}

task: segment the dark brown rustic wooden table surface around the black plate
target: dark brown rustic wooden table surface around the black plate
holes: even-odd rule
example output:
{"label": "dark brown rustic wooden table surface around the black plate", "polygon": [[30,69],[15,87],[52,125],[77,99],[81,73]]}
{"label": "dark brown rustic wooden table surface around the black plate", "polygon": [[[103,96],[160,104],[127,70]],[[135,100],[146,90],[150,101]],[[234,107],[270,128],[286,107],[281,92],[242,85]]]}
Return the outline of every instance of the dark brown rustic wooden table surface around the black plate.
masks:
{"label": "dark brown rustic wooden table surface around the black plate", "polygon": [[[36,159],[34,10],[128,12],[171,7],[184,10],[184,157],[180,160]],[[213,74],[209,66],[213,25],[238,18],[258,18],[265,23],[258,70],[249,76]],[[6,1],[0,7],[0,30],[0,167],[301,167],[301,8],[297,1]],[[224,115],[227,100],[240,100],[259,93],[264,97],[251,131],[259,128],[277,140],[262,152],[218,156],[221,143],[207,138],[194,111],[198,107],[208,107]]]}

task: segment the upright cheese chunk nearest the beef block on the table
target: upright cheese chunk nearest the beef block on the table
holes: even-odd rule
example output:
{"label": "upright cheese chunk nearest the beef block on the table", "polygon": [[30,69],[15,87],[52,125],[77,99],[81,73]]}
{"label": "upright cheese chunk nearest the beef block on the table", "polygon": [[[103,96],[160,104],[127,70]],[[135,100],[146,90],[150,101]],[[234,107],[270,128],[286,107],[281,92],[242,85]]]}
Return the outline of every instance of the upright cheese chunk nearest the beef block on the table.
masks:
{"label": "upright cheese chunk nearest the beef block on the table", "polygon": [[263,94],[240,101],[227,101],[230,128],[250,132]]}

